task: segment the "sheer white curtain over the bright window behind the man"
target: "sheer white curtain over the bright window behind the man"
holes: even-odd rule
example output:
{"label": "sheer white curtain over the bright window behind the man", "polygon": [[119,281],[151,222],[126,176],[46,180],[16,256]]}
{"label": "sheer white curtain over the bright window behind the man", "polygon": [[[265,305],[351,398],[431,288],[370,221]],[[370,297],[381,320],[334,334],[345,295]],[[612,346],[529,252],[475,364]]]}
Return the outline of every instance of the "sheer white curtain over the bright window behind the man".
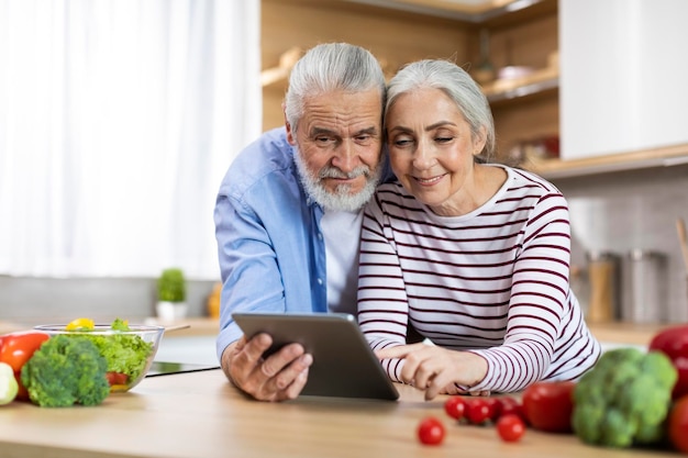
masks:
{"label": "sheer white curtain over the bright window behind the man", "polygon": [[0,0],[0,275],[219,278],[259,0]]}

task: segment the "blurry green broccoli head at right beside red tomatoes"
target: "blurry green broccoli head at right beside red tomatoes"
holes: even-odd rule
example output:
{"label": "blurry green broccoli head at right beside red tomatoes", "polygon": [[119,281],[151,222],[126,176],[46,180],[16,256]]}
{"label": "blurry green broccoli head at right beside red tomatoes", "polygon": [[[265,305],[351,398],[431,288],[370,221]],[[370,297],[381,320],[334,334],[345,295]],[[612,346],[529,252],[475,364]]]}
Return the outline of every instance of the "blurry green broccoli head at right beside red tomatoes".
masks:
{"label": "blurry green broccoli head at right beside red tomatoes", "polygon": [[659,351],[604,353],[574,389],[572,425],[587,444],[631,447],[663,439],[678,372]]}

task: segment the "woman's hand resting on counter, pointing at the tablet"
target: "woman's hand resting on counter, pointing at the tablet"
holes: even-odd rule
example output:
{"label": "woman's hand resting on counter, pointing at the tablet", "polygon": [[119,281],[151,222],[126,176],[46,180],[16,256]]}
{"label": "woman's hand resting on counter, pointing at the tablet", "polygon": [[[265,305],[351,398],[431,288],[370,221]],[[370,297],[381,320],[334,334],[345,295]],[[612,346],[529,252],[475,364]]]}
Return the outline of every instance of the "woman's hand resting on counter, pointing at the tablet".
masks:
{"label": "woman's hand resting on counter, pointing at the tablet", "polygon": [[487,375],[487,361],[481,356],[423,343],[382,348],[375,354],[379,359],[403,359],[401,381],[425,390],[426,400],[437,394],[465,393],[457,386],[473,387]]}

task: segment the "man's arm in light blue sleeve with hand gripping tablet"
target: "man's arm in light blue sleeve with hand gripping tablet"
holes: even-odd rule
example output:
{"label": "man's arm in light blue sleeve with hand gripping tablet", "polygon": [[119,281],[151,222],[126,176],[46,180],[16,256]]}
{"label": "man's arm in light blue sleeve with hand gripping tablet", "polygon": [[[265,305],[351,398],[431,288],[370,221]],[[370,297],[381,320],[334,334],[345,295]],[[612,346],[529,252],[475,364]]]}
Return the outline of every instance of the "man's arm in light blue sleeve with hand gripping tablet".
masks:
{"label": "man's arm in light blue sleeve with hand gripping tablet", "polygon": [[241,391],[262,401],[282,401],[298,396],[306,386],[312,356],[296,345],[263,359],[270,336],[248,340],[232,319],[237,311],[284,313],[287,309],[278,253],[265,217],[256,211],[222,191],[215,205],[223,278],[218,354],[228,379]]}

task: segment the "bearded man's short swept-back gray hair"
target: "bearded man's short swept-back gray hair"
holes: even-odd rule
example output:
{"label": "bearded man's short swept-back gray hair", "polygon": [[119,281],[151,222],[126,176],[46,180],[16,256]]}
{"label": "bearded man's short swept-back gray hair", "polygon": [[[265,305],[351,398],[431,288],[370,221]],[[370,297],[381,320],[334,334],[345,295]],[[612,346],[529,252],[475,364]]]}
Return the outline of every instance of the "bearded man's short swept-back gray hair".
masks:
{"label": "bearded man's short swept-back gray hair", "polygon": [[348,43],[325,43],[309,49],[291,69],[289,89],[285,97],[285,116],[297,131],[303,115],[306,99],[325,92],[343,90],[380,91],[385,107],[385,74],[369,51]]}

